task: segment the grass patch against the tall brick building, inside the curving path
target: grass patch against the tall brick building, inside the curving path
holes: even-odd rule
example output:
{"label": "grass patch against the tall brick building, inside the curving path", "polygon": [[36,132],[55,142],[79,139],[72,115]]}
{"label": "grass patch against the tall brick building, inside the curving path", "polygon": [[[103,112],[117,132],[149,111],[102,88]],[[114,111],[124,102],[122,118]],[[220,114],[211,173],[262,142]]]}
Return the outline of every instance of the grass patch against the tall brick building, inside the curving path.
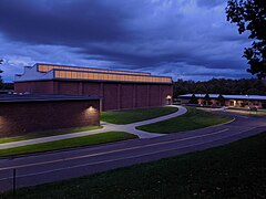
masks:
{"label": "grass patch against the tall brick building, inside the curving path", "polygon": [[177,111],[177,107],[154,107],[154,108],[140,108],[126,109],[115,112],[102,112],[101,121],[113,124],[130,124],[141,121],[152,119],[155,117],[172,114]]}

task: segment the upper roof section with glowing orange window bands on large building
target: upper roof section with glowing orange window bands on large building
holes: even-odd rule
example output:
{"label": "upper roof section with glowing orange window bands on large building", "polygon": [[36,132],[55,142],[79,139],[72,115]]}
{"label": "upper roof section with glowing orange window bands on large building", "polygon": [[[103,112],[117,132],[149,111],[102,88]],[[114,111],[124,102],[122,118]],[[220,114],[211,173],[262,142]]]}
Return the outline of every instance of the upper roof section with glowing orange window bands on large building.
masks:
{"label": "upper roof section with glowing orange window bands on large building", "polygon": [[171,76],[158,76],[151,73],[42,63],[37,63],[31,67],[25,66],[22,75],[14,76],[14,82],[48,80],[173,84]]}

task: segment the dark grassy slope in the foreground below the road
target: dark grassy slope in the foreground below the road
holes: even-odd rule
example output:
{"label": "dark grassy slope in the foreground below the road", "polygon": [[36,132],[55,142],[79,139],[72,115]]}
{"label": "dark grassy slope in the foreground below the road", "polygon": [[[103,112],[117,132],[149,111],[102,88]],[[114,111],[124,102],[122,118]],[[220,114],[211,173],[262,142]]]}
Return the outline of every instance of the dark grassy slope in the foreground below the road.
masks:
{"label": "dark grassy slope in the foreground below the road", "polygon": [[[18,198],[265,198],[266,133],[204,151],[17,191]],[[11,198],[11,192],[0,198]]]}

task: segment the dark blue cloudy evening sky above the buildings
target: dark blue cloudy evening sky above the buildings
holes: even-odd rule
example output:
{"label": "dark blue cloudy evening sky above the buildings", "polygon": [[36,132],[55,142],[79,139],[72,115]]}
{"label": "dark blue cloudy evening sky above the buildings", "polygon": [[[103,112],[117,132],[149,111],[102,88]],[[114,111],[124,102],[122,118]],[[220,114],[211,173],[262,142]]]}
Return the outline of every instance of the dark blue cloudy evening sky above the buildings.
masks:
{"label": "dark blue cloudy evening sky above the buildings", "polygon": [[250,77],[226,0],[0,0],[4,81],[35,62],[147,71],[174,80]]}

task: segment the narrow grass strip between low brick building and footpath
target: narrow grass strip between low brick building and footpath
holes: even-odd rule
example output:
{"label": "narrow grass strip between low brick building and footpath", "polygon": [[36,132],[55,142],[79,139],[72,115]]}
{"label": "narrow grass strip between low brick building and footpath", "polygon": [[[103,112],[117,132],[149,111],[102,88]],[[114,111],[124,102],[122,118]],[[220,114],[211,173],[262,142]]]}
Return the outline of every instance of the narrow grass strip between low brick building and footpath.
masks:
{"label": "narrow grass strip between low brick building and footpath", "polygon": [[102,128],[102,126],[85,126],[85,127],[66,128],[66,129],[59,129],[59,130],[30,133],[30,134],[25,134],[23,136],[2,137],[2,138],[0,138],[0,144],[25,140],[25,139],[33,139],[33,138],[40,138],[40,137],[48,137],[48,136],[55,136],[55,135],[63,135],[63,134],[72,134],[72,133],[78,133],[78,132],[88,132],[88,130],[94,130],[94,129],[100,129],[100,128]]}

